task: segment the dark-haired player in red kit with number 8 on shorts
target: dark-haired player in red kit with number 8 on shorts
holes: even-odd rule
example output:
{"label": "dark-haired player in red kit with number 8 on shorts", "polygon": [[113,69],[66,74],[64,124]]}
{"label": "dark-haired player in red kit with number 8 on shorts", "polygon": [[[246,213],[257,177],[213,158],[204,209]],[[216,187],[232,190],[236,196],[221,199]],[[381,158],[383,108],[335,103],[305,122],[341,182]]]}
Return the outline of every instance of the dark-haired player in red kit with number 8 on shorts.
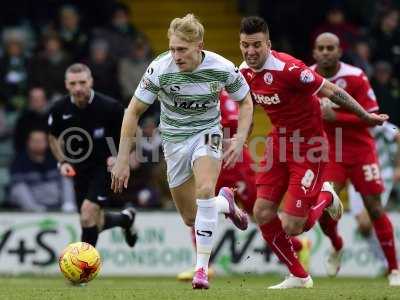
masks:
{"label": "dark-haired player in red kit with number 8 on shorts", "polygon": [[[285,53],[271,50],[268,26],[259,17],[241,22],[241,66],[253,101],[271,119],[273,131],[256,175],[254,218],[262,236],[290,276],[272,289],[310,288],[313,281],[298,261],[290,236],[309,230],[326,210],[338,220],[343,207],[329,183],[323,182],[328,141],[323,131],[317,93],[354,112],[370,125],[387,116],[370,114],[340,87]],[[278,207],[283,199],[283,213]]]}

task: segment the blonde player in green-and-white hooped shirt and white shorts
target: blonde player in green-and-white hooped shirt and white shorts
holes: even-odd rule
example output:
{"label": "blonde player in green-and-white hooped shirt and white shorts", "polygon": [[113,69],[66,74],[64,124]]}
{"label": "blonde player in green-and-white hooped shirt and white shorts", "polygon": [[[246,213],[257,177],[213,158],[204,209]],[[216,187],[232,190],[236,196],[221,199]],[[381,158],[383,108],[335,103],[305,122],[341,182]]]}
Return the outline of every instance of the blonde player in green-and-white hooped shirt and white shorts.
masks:
{"label": "blonde player in green-and-white hooped shirt and white shorts", "polygon": [[234,202],[233,192],[214,190],[222,163],[219,93],[224,88],[240,108],[235,138],[224,153],[224,165],[241,157],[253,115],[249,87],[238,68],[222,56],[203,50],[203,25],[188,14],[172,20],[169,51],[148,67],[125,113],[116,163],[111,172],[115,192],[127,187],[129,152],[140,115],[157,98],[161,102],[160,131],[172,198],[183,221],[196,232],[194,289],[209,287],[207,270],[223,213],[241,230],[247,215]]}

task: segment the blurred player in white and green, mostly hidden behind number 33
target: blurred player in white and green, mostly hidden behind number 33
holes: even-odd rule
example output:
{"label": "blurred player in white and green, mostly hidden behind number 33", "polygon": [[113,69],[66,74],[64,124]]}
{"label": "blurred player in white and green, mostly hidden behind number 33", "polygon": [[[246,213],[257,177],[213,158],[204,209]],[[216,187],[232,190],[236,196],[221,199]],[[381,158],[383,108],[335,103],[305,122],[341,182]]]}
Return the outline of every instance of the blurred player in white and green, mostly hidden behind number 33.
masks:
{"label": "blurred player in white and green, mostly hidden behind number 33", "polygon": [[[375,138],[380,174],[385,186],[385,190],[381,194],[381,202],[382,206],[386,208],[394,184],[400,181],[400,134],[399,129],[390,122],[372,128],[371,133]],[[371,254],[387,267],[379,241],[372,232],[372,223],[368,211],[364,207],[360,193],[356,192],[351,183],[348,185],[348,196],[350,210],[356,218],[358,231],[368,243]]]}

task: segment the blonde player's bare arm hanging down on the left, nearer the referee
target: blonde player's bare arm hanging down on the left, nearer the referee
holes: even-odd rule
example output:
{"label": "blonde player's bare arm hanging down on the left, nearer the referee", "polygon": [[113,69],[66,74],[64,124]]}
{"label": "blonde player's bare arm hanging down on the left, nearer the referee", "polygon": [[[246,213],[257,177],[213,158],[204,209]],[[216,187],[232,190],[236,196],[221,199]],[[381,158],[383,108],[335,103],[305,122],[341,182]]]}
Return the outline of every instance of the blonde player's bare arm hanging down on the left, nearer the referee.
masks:
{"label": "blonde player's bare arm hanging down on the left, nearer the referee", "polygon": [[129,154],[135,139],[139,118],[148,108],[148,104],[133,96],[125,112],[122,121],[117,160],[111,171],[111,189],[115,193],[122,192],[123,188],[128,187],[130,173]]}

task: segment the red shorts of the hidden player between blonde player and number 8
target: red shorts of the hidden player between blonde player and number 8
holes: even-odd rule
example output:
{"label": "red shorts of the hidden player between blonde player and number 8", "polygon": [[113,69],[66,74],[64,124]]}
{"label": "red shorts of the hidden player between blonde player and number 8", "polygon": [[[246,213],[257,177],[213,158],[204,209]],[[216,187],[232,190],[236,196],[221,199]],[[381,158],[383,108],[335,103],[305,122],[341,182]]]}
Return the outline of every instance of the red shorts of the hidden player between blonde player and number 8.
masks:
{"label": "red shorts of the hidden player between blonde player and number 8", "polygon": [[256,201],[256,179],[252,170],[253,161],[247,148],[243,150],[243,161],[238,162],[233,169],[222,169],[219,174],[216,193],[224,187],[235,187],[236,199],[243,209],[253,215],[253,207]]}

